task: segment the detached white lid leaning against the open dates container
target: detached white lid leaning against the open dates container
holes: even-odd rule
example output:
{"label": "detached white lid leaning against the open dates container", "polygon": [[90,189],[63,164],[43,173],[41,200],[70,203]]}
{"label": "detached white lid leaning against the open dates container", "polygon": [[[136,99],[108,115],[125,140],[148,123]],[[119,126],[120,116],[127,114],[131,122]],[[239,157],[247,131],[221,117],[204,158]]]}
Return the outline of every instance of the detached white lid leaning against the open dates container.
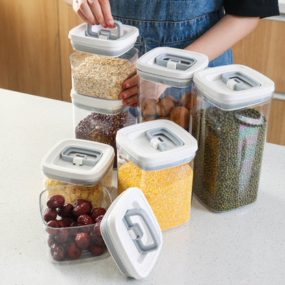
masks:
{"label": "detached white lid leaning against the open dates container", "polygon": [[128,188],[114,200],[100,230],[121,273],[136,279],[149,275],[162,248],[162,232],[139,188]]}

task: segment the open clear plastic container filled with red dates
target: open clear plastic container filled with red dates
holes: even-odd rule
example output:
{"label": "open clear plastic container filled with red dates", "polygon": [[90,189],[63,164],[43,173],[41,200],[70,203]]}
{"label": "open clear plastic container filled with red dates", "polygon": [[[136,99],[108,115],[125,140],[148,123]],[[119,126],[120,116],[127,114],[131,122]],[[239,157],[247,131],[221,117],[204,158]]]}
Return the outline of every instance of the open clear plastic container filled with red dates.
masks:
{"label": "open clear plastic container filled with red dates", "polygon": [[[47,202],[55,195],[64,197],[65,206],[71,204],[69,211],[62,214],[60,212],[62,206],[49,208],[51,206]],[[93,216],[94,223],[87,225],[83,223],[81,225],[77,222],[78,217],[77,214],[73,214],[73,209],[79,205],[78,199],[90,202],[92,204],[91,210],[95,208],[108,210],[112,203],[108,189],[101,184],[66,184],[65,186],[47,188],[40,193],[40,216],[46,233],[47,257],[52,262],[83,261],[109,256],[103,238],[95,231],[96,215]],[[62,201],[60,205],[62,205]],[[103,219],[103,217],[98,219]]]}

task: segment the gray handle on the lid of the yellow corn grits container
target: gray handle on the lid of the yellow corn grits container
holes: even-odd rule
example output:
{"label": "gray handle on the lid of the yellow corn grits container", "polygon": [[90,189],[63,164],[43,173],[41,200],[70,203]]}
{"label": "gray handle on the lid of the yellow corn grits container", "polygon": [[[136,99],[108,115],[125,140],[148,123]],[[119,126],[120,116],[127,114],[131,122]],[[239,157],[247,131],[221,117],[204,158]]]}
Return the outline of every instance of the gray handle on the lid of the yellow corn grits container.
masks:
{"label": "gray handle on the lid of the yellow corn grits container", "polygon": [[184,145],[183,141],[178,138],[178,136],[164,127],[149,129],[147,131],[147,139],[149,140],[151,147],[159,149],[160,151],[167,151]]}

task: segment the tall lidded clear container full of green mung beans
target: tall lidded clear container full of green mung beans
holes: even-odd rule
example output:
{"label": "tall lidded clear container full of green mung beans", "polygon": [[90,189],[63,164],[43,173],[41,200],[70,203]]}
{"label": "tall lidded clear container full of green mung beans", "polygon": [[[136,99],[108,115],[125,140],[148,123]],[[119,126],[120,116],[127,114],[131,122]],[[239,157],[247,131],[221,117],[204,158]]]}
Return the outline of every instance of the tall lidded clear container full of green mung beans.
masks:
{"label": "tall lidded clear container full of green mung beans", "polygon": [[197,138],[193,193],[214,212],[247,206],[257,199],[271,79],[243,65],[194,75]]}

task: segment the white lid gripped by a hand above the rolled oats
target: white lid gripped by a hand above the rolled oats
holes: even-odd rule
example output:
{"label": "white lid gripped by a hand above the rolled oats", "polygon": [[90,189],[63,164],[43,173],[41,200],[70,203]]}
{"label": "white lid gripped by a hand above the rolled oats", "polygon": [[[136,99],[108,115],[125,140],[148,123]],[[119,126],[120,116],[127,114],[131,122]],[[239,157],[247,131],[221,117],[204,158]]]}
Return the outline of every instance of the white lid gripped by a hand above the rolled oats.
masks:
{"label": "white lid gripped by a hand above the rolled oats", "polygon": [[114,21],[116,28],[82,23],[69,31],[75,51],[99,55],[119,56],[131,49],[138,38],[138,28]]}

